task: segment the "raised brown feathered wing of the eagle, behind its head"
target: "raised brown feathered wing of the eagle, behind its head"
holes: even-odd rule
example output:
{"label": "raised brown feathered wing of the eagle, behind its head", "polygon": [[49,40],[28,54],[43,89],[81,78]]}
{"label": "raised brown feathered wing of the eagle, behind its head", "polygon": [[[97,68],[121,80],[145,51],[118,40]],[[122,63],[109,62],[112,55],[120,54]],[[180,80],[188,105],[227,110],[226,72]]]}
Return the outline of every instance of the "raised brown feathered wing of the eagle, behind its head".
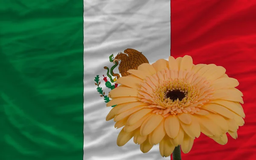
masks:
{"label": "raised brown feathered wing of the eagle, behind its head", "polygon": [[142,52],[139,52],[135,49],[125,49],[124,53],[128,55],[128,58],[130,60],[129,67],[126,65],[127,70],[137,70],[140,64],[148,63],[148,59],[142,54]]}

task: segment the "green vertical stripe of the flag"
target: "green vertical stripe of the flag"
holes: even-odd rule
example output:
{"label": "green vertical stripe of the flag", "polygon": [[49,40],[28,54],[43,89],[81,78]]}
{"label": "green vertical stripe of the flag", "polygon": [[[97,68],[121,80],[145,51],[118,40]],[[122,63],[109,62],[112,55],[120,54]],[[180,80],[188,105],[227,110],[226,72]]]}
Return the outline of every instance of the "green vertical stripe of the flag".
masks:
{"label": "green vertical stripe of the flag", "polygon": [[83,159],[83,1],[0,0],[0,160]]}

